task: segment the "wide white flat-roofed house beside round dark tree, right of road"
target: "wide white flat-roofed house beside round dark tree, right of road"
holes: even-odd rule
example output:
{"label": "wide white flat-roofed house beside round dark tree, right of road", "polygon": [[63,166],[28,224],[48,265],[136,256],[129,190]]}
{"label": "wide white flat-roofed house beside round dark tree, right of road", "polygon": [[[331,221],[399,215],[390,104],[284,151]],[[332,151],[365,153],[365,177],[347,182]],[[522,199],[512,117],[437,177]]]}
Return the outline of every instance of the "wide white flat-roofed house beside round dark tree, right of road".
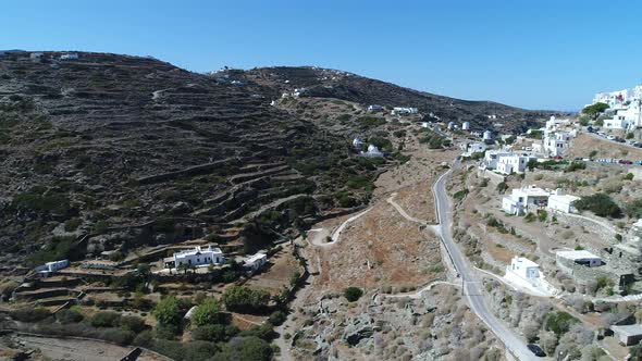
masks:
{"label": "wide white flat-roofed house beside round dark tree, right of road", "polygon": [[546,190],[534,185],[513,189],[502,199],[502,210],[508,214],[523,215],[528,211],[550,209],[563,213],[576,213],[575,202],[580,198],[566,195],[563,189]]}

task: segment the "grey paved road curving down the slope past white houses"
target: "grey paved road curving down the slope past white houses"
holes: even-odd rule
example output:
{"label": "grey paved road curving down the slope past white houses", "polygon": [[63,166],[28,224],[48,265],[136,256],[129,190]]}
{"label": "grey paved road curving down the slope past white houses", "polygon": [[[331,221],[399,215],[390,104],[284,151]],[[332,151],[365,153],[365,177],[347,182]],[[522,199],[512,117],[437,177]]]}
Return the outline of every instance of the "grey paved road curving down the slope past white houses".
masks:
{"label": "grey paved road curving down the slope past white houses", "polygon": [[508,327],[506,327],[495,315],[492,313],[489,303],[482,296],[478,278],[474,270],[468,263],[468,259],[464,257],[455,241],[453,240],[453,234],[450,226],[453,223],[450,214],[450,201],[446,192],[446,179],[450,175],[452,170],[444,173],[433,185],[433,192],[437,209],[437,220],[440,222],[437,232],[442,238],[444,246],[446,247],[455,269],[465,281],[462,285],[464,294],[470,309],[480,318],[486,326],[502,340],[513,356],[519,360],[539,360],[527,347],[526,344]]}

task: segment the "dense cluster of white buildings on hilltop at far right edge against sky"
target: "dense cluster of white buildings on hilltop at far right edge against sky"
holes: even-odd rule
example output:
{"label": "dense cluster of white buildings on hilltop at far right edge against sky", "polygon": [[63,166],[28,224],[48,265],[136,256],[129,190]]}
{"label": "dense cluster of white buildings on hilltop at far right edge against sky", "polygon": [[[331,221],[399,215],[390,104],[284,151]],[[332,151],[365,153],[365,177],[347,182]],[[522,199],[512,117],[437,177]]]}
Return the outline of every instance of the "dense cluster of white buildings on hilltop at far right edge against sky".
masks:
{"label": "dense cluster of white buildings on hilltop at far right edge against sky", "polygon": [[631,89],[621,89],[610,92],[598,92],[593,97],[593,102],[605,103],[610,119],[604,120],[607,129],[634,129],[642,127],[642,85]]}

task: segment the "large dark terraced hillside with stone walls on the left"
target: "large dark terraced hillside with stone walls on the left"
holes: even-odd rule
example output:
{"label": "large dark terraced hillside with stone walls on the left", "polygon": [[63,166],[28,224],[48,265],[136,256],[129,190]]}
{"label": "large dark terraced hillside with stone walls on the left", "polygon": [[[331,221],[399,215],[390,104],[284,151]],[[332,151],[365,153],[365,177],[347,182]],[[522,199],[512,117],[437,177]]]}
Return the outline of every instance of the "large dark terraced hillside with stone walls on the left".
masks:
{"label": "large dark terraced hillside with stone walls on the left", "polygon": [[198,236],[250,250],[363,204],[384,165],[249,87],[147,58],[59,55],[0,57],[7,264]]}

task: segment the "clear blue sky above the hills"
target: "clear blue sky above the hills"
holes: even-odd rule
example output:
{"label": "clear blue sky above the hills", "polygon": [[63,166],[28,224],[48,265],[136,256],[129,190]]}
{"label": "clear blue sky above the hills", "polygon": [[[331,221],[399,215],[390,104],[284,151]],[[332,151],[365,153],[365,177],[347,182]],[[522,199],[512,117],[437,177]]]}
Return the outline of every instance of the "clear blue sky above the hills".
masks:
{"label": "clear blue sky above the hills", "polygon": [[638,1],[5,1],[0,49],[153,55],[203,72],[318,65],[577,110],[642,82]]}

